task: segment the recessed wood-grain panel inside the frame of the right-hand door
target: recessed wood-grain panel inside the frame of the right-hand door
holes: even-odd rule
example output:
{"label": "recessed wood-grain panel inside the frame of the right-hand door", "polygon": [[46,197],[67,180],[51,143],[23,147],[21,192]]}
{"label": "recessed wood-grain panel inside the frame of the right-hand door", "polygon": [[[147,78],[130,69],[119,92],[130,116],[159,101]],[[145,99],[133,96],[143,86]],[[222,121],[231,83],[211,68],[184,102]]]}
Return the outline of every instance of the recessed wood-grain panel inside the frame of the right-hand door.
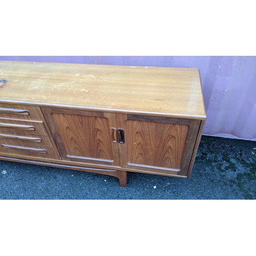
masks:
{"label": "recessed wood-grain panel inside the frame of the right-hand door", "polygon": [[126,121],[129,163],[180,169],[187,130],[187,125]]}

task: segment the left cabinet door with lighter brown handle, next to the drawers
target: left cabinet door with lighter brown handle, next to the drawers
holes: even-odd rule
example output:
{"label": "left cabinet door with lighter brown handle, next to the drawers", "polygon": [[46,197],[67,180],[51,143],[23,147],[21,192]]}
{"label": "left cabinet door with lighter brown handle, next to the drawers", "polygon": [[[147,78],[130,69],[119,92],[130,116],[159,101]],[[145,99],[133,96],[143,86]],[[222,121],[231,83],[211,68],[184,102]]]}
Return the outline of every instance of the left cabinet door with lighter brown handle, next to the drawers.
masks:
{"label": "left cabinet door with lighter brown handle, next to the drawers", "polygon": [[63,160],[118,166],[114,114],[41,108]]}

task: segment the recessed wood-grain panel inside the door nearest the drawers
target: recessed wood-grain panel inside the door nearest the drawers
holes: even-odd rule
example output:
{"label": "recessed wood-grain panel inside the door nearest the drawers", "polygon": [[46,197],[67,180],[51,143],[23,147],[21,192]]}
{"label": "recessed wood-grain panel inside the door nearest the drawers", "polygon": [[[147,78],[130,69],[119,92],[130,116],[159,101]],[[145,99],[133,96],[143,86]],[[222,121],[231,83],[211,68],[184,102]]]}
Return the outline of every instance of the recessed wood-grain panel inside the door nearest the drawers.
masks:
{"label": "recessed wood-grain panel inside the door nearest the drawers", "polygon": [[108,119],[53,113],[69,156],[113,160]]}

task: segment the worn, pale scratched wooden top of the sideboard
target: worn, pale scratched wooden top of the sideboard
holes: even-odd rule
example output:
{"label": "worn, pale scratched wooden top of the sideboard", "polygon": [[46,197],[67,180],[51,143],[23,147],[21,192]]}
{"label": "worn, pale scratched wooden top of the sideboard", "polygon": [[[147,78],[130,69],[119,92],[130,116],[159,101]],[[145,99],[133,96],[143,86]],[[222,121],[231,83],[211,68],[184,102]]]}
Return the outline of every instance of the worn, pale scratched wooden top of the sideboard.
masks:
{"label": "worn, pale scratched wooden top of the sideboard", "polygon": [[0,61],[0,102],[206,119],[198,69]]}

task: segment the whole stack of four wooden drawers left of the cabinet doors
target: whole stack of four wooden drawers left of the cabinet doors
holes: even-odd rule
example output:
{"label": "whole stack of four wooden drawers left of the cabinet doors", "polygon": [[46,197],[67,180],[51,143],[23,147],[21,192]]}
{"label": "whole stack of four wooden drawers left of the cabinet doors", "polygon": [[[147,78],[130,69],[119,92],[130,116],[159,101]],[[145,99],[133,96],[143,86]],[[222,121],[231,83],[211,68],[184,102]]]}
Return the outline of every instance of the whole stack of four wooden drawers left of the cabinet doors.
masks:
{"label": "whole stack of four wooden drawers left of the cabinet doors", "polygon": [[0,154],[60,159],[39,106],[0,103]]}

